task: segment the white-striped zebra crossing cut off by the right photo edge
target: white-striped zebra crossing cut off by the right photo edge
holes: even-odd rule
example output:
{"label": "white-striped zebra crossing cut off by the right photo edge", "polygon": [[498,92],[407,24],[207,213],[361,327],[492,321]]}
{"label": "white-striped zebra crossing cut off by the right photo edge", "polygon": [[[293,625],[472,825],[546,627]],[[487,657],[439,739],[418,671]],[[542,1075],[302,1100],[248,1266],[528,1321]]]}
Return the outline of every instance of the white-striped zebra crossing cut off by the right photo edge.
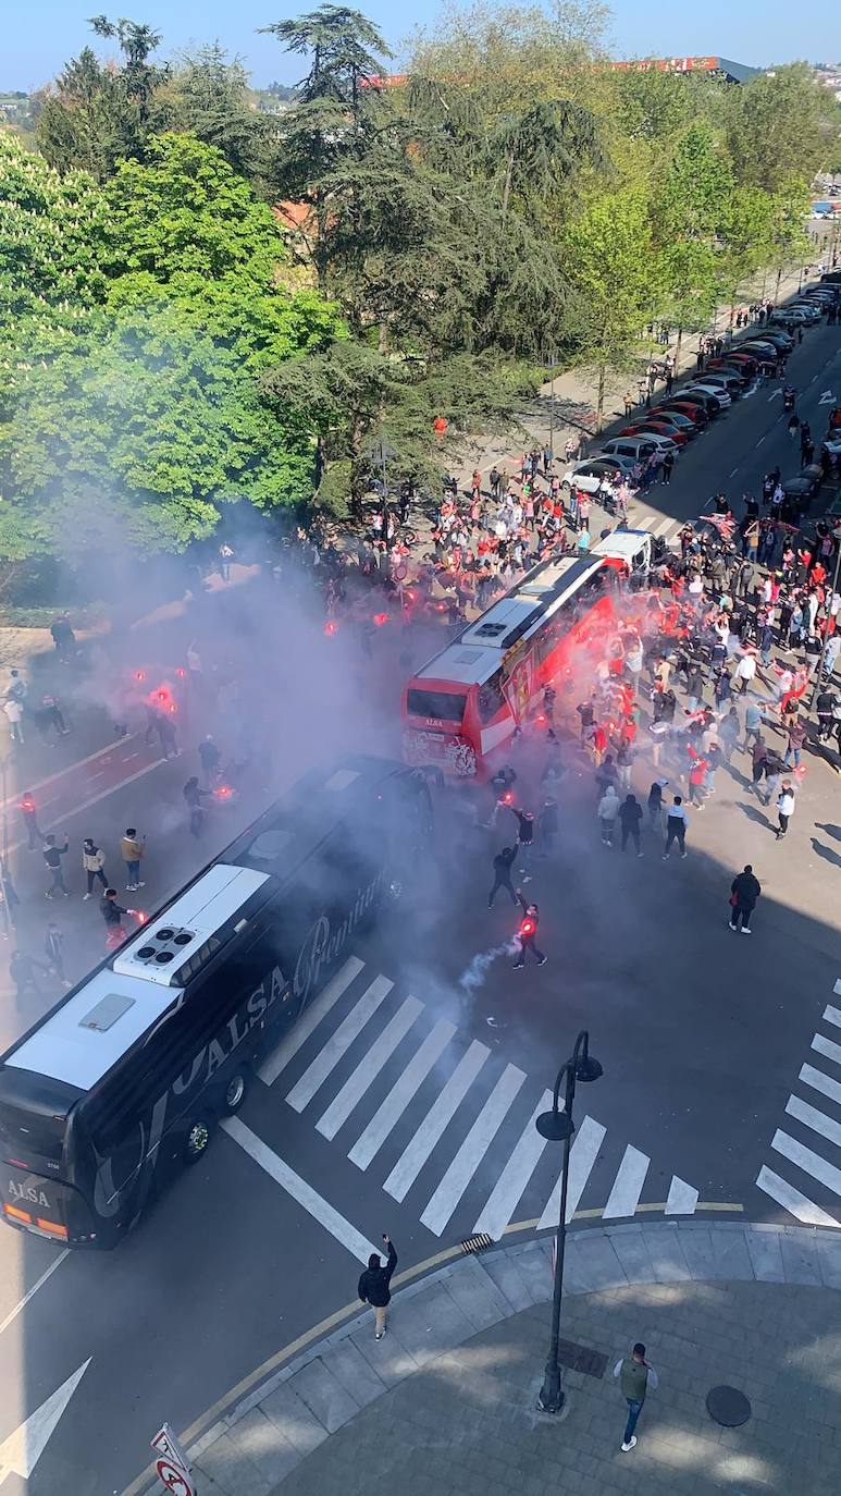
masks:
{"label": "white-striped zebra crossing cut off by the right photo edge", "polygon": [[[841,996],[841,978],[834,990]],[[841,1228],[841,1008],[828,1004],[822,1028],[825,1032],[819,1031],[811,1041],[811,1050],[822,1064],[801,1067],[798,1080],[808,1089],[804,1095],[792,1092],[786,1103],[786,1118],[798,1126],[787,1131],[787,1122],[786,1128],[777,1128],[771,1140],[771,1147],[787,1167],[784,1173],[777,1173],[777,1168],[763,1164],[756,1183],[804,1225]],[[816,1098],[820,1098],[819,1106]],[[805,1194],[805,1189],[810,1192]]]}

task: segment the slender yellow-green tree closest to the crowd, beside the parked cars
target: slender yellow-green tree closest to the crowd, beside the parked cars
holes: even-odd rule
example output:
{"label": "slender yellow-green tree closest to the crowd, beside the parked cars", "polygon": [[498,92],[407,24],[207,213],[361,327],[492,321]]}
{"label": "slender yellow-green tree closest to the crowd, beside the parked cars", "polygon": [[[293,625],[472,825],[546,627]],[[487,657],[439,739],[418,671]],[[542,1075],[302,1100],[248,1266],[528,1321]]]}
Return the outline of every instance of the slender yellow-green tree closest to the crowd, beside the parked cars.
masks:
{"label": "slender yellow-green tree closest to the crowd, beside the parked cars", "polygon": [[568,244],[580,308],[577,355],[595,365],[599,377],[596,429],[601,431],[606,371],[627,364],[657,305],[644,191],[596,197],[571,226]]}

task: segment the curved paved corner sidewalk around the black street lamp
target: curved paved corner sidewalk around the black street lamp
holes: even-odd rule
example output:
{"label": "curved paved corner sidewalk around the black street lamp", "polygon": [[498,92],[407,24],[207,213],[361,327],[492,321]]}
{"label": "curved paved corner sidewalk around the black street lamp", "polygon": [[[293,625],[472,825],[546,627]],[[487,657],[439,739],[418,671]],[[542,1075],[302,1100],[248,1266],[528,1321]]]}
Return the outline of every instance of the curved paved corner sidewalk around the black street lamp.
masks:
{"label": "curved paved corner sidewalk around the black street lamp", "polygon": [[[568,1403],[535,1411],[550,1239],[462,1258],[311,1346],[193,1447],[200,1496],[829,1496],[841,1468],[841,1233],[684,1222],[574,1231]],[[620,1450],[617,1357],[659,1372]],[[751,1417],[723,1429],[713,1387]]]}

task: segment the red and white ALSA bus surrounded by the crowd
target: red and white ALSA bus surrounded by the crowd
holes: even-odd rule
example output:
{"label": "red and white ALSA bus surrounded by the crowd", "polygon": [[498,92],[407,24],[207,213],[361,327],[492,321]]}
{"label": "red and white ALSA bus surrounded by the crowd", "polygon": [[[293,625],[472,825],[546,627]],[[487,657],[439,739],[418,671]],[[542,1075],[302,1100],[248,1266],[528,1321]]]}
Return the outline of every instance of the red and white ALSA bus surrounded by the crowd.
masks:
{"label": "red and white ALSA bus surrounded by the crowd", "polygon": [[645,531],[615,530],[589,555],[544,561],[468,624],[403,690],[403,760],[487,779],[502,751],[563,676],[568,658],[603,652],[617,565],[647,571]]}

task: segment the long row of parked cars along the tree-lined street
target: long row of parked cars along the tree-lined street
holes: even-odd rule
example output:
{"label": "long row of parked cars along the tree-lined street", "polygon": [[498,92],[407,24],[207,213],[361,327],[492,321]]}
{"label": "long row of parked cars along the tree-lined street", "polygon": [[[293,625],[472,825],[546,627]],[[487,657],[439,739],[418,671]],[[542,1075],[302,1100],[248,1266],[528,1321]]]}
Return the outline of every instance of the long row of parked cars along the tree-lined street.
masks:
{"label": "long row of parked cars along the tree-lined street", "polygon": [[[835,299],[835,286],[813,286],[796,302],[774,313],[771,323],[748,338],[733,343],[720,358],[710,359],[689,383],[650,408],[641,408],[618,437],[605,441],[601,452],[575,462],[563,474],[562,486],[586,494],[603,491],[617,471],[629,476],[636,464],[645,465],[654,452],[680,452],[716,416],[727,410],[748,389],[762,368],[786,358],[795,340],[792,331],[820,322]],[[792,328],[792,331],[789,331]]]}

